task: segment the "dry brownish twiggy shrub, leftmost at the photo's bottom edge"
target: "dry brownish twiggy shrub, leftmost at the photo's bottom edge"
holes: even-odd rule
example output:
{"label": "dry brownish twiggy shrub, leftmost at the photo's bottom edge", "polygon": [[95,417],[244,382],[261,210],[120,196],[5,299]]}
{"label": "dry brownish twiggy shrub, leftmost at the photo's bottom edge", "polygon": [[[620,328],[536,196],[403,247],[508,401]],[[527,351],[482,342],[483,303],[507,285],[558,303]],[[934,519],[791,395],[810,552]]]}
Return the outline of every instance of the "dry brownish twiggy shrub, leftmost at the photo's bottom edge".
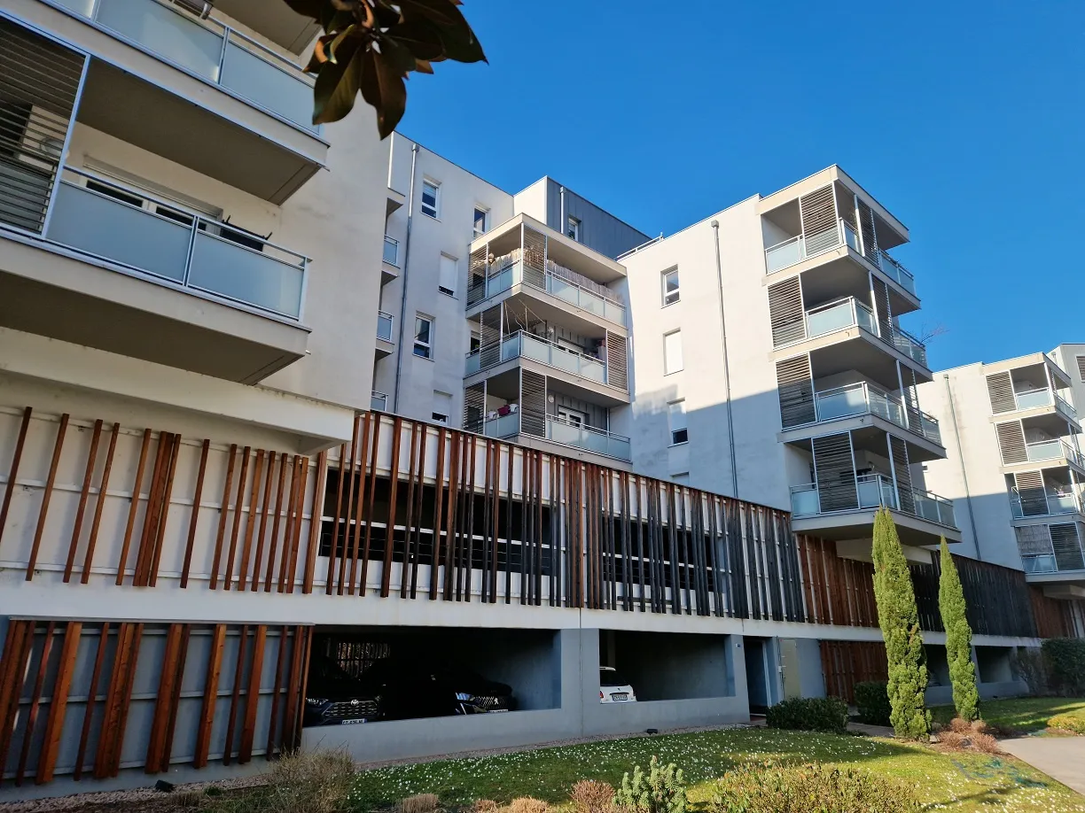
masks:
{"label": "dry brownish twiggy shrub, leftmost at the photo's bottom edge", "polygon": [[354,784],[354,760],[343,750],[295,751],[268,775],[266,813],[339,813]]}

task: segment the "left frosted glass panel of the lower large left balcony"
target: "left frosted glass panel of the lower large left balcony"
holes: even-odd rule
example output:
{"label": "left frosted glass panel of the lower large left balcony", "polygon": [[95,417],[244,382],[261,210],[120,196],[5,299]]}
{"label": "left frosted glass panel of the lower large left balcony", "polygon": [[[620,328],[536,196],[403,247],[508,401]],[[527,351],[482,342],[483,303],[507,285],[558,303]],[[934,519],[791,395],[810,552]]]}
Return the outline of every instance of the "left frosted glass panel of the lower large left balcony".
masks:
{"label": "left frosted glass panel of the lower large left balcony", "polygon": [[174,282],[184,281],[190,227],[61,183],[46,236],[62,245]]}

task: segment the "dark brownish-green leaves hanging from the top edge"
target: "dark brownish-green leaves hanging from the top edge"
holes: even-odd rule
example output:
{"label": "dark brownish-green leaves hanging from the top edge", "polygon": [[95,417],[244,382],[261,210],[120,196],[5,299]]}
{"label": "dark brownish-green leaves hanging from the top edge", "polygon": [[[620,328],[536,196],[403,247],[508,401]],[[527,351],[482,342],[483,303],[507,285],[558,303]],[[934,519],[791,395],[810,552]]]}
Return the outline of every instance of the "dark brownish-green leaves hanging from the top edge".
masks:
{"label": "dark brownish-green leaves hanging from the top edge", "polygon": [[433,63],[485,62],[461,0],[284,0],[315,20],[323,35],[306,70],[316,74],[312,124],[339,121],[358,93],[376,111],[387,138],[407,108],[407,76]]}

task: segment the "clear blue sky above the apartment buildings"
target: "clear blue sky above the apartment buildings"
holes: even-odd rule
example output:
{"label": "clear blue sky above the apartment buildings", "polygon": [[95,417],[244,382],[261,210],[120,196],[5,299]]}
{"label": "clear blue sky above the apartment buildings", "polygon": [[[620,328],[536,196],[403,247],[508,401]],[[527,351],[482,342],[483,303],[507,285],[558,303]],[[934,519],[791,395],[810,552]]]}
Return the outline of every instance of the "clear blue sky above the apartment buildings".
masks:
{"label": "clear blue sky above the apartment buildings", "polygon": [[671,234],[837,163],[901,218],[932,366],[1085,341],[1085,2],[468,0],[400,130]]}

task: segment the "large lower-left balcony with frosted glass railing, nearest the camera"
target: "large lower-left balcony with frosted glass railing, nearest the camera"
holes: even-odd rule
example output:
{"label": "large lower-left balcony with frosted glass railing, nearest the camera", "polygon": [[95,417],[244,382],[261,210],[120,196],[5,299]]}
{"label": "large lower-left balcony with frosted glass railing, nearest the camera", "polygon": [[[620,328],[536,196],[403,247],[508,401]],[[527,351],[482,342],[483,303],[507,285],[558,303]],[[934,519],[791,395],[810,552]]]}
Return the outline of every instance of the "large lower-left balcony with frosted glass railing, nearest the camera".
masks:
{"label": "large lower-left balcony with frosted glass railing, nearest the camera", "polygon": [[51,205],[0,230],[5,326],[245,383],[305,354],[304,255],[72,169]]}

